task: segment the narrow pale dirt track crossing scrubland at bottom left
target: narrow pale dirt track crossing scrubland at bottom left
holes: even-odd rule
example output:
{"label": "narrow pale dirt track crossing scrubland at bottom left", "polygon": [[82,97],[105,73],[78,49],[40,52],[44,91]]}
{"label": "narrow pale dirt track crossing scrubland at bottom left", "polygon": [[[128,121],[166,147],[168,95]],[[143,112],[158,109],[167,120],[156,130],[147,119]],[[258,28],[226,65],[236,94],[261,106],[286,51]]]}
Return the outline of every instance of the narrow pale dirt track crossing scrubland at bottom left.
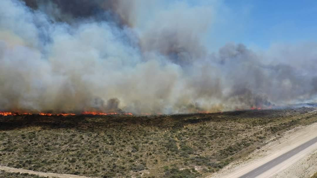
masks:
{"label": "narrow pale dirt track crossing scrubland at bottom left", "polygon": [[29,173],[44,177],[59,177],[59,178],[88,178],[86,176],[79,176],[79,175],[70,175],[70,174],[55,174],[55,173],[46,173],[46,172],[36,172],[26,169],[17,169],[17,168],[10,168],[6,166],[0,166],[0,170],[4,170],[6,172],[14,172],[14,173]]}

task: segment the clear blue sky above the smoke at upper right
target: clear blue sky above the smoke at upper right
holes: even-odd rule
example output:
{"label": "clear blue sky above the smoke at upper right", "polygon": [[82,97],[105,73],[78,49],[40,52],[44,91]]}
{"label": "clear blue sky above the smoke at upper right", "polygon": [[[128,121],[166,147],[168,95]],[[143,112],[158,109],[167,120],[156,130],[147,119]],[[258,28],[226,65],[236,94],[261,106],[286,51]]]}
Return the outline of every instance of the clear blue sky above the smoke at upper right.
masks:
{"label": "clear blue sky above the smoke at upper right", "polygon": [[227,42],[266,49],[274,43],[317,40],[316,0],[224,0],[223,5],[226,12],[218,12],[219,21],[207,35],[211,50]]}

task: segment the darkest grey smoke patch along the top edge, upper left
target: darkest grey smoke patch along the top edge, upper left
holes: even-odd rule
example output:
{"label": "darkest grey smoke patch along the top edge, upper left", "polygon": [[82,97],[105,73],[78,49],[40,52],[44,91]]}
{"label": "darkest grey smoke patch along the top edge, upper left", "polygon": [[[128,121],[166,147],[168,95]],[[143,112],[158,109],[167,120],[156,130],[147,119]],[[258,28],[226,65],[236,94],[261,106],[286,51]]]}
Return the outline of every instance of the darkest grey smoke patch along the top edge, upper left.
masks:
{"label": "darkest grey smoke patch along the top edge, upper left", "polygon": [[131,26],[133,2],[124,0],[21,0],[32,10],[39,10],[55,22],[70,24],[83,20],[115,22],[118,26]]}

